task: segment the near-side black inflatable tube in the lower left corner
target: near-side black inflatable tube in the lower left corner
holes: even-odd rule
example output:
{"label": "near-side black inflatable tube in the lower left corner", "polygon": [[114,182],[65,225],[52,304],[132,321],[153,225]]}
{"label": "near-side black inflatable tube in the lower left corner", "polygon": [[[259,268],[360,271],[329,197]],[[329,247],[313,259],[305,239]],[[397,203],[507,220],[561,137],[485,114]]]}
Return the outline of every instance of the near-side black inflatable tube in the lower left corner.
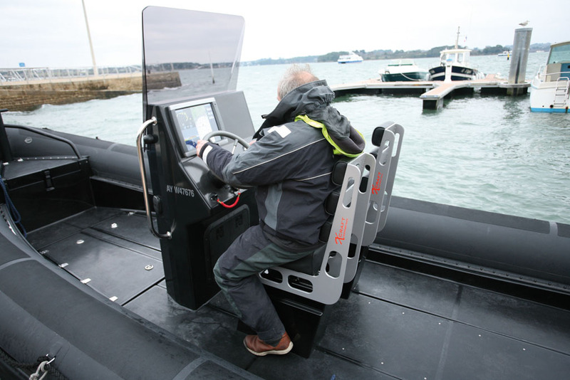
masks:
{"label": "near-side black inflatable tube in the lower left corner", "polygon": [[0,246],[0,347],[16,361],[55,357],[68,379],[252,377],[78,283],[4,220]]}

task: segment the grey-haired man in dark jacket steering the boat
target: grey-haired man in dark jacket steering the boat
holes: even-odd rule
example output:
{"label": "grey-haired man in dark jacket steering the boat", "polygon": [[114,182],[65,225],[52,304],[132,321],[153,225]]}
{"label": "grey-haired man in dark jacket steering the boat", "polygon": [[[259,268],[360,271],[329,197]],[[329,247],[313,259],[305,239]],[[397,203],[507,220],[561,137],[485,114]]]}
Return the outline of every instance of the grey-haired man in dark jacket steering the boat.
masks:
{"label": "grey-haired man in dark jacket steering the boat", "polygon": [[200,140],[197,152],[214,174],[235,187],[255,186],[259,225],[232,243],[214,267],[217,284],[237,316],[257,335],[244,344],[259,356],[286,354],[293,343],[257,273],[309,255],[322,243],[324,201],[336,188],[338,157],[356,157],[364,140],[330,103],[333,91],[307,65],[294,65],[277,90],[279,104],[247,151],[232,155]]}

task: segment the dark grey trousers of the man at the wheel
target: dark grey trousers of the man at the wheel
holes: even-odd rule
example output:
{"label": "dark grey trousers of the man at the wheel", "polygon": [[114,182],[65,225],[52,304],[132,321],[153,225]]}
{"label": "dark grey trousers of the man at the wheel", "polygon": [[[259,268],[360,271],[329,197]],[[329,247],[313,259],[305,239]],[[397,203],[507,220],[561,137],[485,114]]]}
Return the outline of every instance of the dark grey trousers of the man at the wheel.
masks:
{"label": "dark grey trousers of the man at the wheel", "polygon": [[214,276],[242,322],[267,344],[275,345],[285,328],[257,273],[298,260],[313,250],[290,252],[269,241],[260,226],[242,233],[219,257]]}

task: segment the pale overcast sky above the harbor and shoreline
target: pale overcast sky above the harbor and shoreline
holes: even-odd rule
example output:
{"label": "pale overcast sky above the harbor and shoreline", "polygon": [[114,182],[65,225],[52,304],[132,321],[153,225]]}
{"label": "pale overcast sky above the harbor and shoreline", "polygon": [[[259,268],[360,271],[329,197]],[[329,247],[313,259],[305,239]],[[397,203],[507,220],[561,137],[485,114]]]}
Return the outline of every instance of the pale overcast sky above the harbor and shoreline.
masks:
{"label": "pale overcast sky above the harbor and shoreline", "polygon": [[[532,43],[570,40],[569,0],[85,0],[98,66],[141,62],[141,12],[168,6],[245,19],[242,60],[331,51],[511,45],[529,20]],[[0,0],[0,67],[90,66],[81,0]]]}

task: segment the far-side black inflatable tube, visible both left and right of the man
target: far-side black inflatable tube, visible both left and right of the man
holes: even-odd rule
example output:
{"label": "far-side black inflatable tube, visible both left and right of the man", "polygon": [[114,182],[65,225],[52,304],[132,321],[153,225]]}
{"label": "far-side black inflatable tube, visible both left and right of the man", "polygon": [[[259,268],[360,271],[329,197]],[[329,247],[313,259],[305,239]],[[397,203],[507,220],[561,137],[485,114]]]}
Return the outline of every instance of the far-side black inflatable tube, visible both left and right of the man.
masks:
{"label": "far-side black inflatable tube, visible both left and right of the man", "polygon": [[[88,155],[95,175],[140,187],[134,146],[49,132],[72,141],[81,154]],[[13,151],[29,155],[55,154],[63,145],[45,140],[31,147],[22,138],[10,140]],[[393,196],[386,226],[376,243],[570,289],[570,226],[563,223]]]}

